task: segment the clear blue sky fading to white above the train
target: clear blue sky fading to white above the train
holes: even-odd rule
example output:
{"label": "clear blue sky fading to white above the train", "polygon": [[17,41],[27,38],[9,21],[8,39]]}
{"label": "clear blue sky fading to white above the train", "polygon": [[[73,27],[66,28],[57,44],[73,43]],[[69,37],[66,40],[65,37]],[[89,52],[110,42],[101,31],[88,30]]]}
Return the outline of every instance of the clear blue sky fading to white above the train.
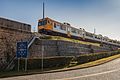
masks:
{"label": "clear blue sky fading to white above the train", "polygon": [[37,31],[43,2],[45,17],[120,40],[120,0],[0,0],[0,17],[28,23]]}

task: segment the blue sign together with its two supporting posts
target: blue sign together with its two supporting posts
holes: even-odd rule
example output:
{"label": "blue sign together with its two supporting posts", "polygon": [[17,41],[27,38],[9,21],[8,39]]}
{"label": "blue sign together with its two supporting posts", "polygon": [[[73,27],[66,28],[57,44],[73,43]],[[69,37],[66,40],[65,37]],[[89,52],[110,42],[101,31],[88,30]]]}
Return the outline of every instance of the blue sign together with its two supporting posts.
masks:
{"label": "blue sign together with its two supporting posts", "polygon": [[28,55],[28,43],[23,41],[17,42],[16,56],[18,58],[18,71],[20,68],[20,58],[25,58],[25,71],[27,71],[27,55]]}

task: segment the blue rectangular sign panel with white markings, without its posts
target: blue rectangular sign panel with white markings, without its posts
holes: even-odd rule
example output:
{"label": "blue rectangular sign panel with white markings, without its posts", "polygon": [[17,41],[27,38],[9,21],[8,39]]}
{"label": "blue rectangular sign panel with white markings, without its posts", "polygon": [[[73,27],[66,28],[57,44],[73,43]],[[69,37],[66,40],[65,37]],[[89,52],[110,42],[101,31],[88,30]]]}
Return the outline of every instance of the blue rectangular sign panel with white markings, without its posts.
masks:
{"label": "blue rectangular sign panel with white markings, without its posts", "polygon": [[27,42],[17,42],[17,58],[27,58],[28,54],[28,43]]}

